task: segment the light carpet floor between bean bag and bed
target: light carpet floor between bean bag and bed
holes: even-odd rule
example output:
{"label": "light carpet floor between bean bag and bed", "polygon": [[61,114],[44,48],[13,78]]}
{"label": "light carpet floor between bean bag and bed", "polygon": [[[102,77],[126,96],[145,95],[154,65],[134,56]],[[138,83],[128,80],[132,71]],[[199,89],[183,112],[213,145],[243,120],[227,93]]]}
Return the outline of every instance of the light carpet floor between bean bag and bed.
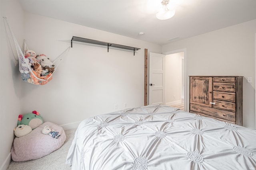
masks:
{"label": "light carpet floor between bean bag and bed", "polygon": [[7,170],[71,170],[71,167],[66,165],[65,162],[75,132],[76,129],[65,131],[66,141],[58,150],[36,160],[24,162],[12,161]]}

